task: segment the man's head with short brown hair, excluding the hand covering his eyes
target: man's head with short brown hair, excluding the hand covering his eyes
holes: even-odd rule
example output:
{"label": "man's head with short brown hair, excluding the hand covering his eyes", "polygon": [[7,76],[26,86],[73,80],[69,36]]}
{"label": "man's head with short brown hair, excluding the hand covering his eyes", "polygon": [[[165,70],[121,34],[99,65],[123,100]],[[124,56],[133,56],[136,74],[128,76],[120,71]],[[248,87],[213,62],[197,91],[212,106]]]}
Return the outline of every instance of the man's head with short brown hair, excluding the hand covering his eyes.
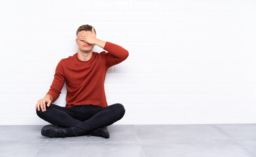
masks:
{"label": "man's head with short brown hair, excluding the hand covering his eyes", "polygon": [[[77,29],[77,33],[76,35],[78,35],[78,33],[80,31],[92,31],[92,26],[86,24],[86,25],[82,25],[80,26],[78,29]],[[95,32],[95,35],[96,35],[96,31],[95,31],[95,28],[94,28],[94,32]],[[94,48],[95,44],[89,44],[89,43],[86,43],[86,41],[81,41],[79,40],[78,38],[75,39],[76,40],[76,43],[77,45],[79,46],[79,49],[82,50],[82,51],[92,51],[92,49]],[[84,45],[88,45],[88,46],[84,46]]]}

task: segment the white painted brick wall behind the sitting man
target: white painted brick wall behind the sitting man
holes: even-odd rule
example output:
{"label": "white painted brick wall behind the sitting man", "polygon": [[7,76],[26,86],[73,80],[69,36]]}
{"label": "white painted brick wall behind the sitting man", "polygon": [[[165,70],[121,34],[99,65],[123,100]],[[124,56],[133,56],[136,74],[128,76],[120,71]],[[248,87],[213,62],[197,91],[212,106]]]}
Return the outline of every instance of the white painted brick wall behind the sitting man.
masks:
{"label": "white painted brick wall behind the sitting man", "polygon": [[35,103],[82,24],[130,52],[105,79],[115,124],[255,123],[255,16],[253,0],[0,1],[0,124],[48,124]]}

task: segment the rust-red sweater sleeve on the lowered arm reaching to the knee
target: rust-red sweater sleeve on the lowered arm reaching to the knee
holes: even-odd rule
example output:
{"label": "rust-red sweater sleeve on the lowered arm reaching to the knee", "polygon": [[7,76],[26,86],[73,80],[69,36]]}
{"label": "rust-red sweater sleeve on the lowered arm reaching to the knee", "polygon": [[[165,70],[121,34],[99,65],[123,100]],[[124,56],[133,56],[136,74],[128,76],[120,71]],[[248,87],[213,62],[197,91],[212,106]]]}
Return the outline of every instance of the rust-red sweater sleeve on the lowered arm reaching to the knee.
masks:
{"label": "rust-red sweater sleeve on the lowered arm reaching to the knee", "polygon": [[62,93],[61,91],[64,86],[64,83],[65,83],[64,70],[60,61],[56,67],[54,80],[52,81],[50,90],[47,92],[47,94],[50,94],[50,96],[52,96],[52,103],[56,101],[56,99],[58,99],[58,97]]}

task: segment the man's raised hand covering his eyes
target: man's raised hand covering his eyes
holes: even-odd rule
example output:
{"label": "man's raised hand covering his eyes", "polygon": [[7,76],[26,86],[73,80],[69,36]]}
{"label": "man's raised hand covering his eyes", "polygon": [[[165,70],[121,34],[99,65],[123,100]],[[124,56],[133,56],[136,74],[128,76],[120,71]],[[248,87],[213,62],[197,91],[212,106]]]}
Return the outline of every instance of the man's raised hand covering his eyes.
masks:
{"label": "man's raised hand covering his eyes", "polygon": [[79,31],[77,38],[81,41],[86,41],[88,44],[96,44],[98,41],[94,27],[92,27],[92,31]]}

